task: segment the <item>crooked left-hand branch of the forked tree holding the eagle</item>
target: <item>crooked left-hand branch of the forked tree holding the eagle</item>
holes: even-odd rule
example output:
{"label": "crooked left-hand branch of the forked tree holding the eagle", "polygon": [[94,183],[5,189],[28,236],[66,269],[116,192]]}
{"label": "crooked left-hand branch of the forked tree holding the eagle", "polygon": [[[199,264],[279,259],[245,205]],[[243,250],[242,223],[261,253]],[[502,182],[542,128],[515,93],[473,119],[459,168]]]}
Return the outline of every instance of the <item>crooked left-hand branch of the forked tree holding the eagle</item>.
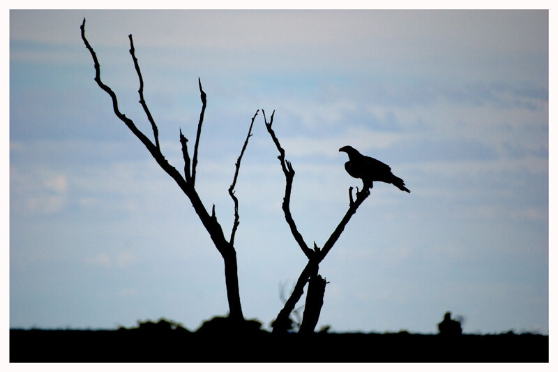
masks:
{"label": "crooked left-hand branch of the forked tree holding the eagle", "polygon": [[285,213],[285,220],[287,220],[287,224],[291,229],[291,233],[292,236],[294,237],[294,240],[296,240],[296,242],[301,247],[303,253],[310,260],[314,257],[314,251],[308,248],[308,245],[304,241],[301,233],[296,228],[296,223],[294,223],[294,219],[292,218],[292,214],[291,214],[291,209],[289,204],[291,202],[291,190],[292,190],[292,181],[294,178],[294,169],[292,168],[292,164],[289,161],[285,160],[285,149],[281,147],[281,144],[279,143],[279,140],[275,135],[275,131],[273,131],[273,129],[271,128],[271,126],[273,125],[273,114],[275,114],[275,111],[273,111],[273,113],[271,114],[271,119],[269,123],[267,122],[266,113],[263,109],[262,109],[262,114],[264,114],[264,122],[266,124],[267,131],[269,132],[269,135],[271,135],[271,139],[273,140],[273,143],[275,143],[279,151],[279,156],[277,158],[279,159],[281,163],[281,168],[283,170],[283,173],[285,174],[285,197],[283,198],[283,204],[282,204],[282,209],[283,212]]}

